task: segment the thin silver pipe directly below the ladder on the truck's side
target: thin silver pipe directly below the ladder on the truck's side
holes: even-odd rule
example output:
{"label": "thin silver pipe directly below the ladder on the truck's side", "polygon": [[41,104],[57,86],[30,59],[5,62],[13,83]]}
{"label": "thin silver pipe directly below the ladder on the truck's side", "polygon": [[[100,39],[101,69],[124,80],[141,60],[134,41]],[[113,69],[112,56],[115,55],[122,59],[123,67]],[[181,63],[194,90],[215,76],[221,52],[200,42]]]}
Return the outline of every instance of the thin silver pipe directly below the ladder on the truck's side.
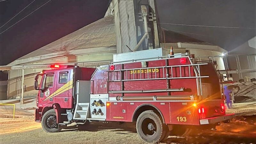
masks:
{"label": "thin silver pipe directly below the ladder on the truck's side", "polygon": [[184,88],[167,90],[109,91],[111,93],[184,92]]}

